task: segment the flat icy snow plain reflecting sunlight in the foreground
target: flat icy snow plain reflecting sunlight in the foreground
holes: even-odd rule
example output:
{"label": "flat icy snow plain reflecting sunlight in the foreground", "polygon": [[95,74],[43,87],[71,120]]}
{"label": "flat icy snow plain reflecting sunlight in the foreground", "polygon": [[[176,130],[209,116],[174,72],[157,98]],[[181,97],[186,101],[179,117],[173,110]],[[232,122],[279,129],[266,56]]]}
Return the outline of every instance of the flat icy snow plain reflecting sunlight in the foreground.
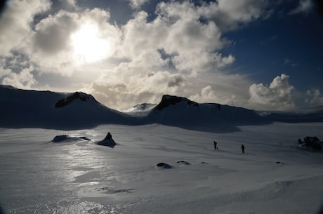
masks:
{"label": "flat icy snow plain reflecting sunlight in the foreground", "polygon": [[[323,123],[239,128],[0,128],[0,203],[6,213],[319,213],[323,153],[297,140],[322,140]],[[96,144],[107,132],[114,148]],[[56,135],[91,141],[51,142]]]}

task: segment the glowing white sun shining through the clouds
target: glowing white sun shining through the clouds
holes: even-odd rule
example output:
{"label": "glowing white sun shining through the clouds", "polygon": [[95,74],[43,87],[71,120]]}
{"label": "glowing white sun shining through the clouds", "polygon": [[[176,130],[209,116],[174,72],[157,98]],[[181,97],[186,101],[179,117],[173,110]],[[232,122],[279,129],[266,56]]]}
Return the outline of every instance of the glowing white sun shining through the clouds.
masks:
{"label": "glowing white sun shining through the clouds", "polygon": [[97,26],[85,24],[71,35],[74,58],[84,62],[96,62],[110,55],[110,44],[100,35]]}

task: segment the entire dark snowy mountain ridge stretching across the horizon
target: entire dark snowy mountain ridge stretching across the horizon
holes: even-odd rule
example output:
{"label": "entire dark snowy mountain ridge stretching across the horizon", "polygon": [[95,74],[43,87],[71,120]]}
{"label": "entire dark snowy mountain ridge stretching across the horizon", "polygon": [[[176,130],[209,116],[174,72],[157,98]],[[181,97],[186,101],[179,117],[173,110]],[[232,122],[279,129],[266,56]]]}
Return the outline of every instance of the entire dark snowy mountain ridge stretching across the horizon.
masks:
{"label": "entire dark snowy mountain ridge stretching across the horizon", "polygon": [[272,121],[323,121],[323,110],[255,112],[218,103],[197,103],[164,95],[159,104],[140,104],[125,112],[110,109],[82,92],[55,93],[0,86],[1,127],[90,128],[99,124],[159,123],[203,131],[228,132],[237,126]]}

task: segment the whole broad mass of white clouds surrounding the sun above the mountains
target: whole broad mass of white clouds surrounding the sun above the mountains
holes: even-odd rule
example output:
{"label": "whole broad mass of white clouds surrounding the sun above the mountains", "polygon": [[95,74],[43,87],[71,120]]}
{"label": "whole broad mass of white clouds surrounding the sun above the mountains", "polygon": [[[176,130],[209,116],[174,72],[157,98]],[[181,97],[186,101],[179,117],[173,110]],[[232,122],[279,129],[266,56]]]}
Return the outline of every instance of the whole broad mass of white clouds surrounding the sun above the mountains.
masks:
{"label": "whole broad mass of white clouds surrounding the sun above the mountains", "polygon": [[[192,1],[161,2],[153,20],[147,12],[140,11],[146,0],[129,1],[136,11],[131,20],[120,26],[110,23],[108,11],[84,10],[74,0],[60,0],[65,8],[75,8],[74,11],[44,15],[34,26],[34,14],[48,10],[50,2],[32,1],[34,5],[46,4],[22,13],[23,19],[17,15],[22,8],[11,8],[17,17],[7,14],[0,26],[6,22],[15,27],[8,27],[5,36],[1,36],[0,39],[10,41],[1,51],[24,53],[29,63],[20,67],[21,72],[14,70],[19,68],[19,60],[10,65],[1,63],[0,79],[14,86],[32,88],[37,85],[37,75],[33,76],[36,72],[82,78],[82,86],[88,80],[83,91],[115,109],[127,109],[141,102],[157,103],[166,93],[197,102],[235,106],[252,104],[272,109],[294,106],[293,86],[289,86],[289,76],[285,74],[277,76],[270,86],[251,86],[246,76],[224,72],[235,62],[235,56],[221,53],[234,42],[225,38],[223,32],[266,15],[267,1],[219,0],[199,5]],[[110,53],[99,62],[75,58],[71,36],[86,23],[95,26],[100,39],[110,44]]]}

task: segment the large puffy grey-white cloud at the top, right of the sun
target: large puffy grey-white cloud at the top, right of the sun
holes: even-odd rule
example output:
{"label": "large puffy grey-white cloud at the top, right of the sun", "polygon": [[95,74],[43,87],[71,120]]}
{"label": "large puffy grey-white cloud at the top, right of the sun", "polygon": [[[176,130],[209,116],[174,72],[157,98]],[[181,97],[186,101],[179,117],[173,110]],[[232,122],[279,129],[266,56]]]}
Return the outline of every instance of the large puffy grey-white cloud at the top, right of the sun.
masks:
{"label": "large puffy grey-white cloud at the top, right of the sun", "polygon": [[184,72],[210,71],[232,64],[233,55],[219,53],[230,41],[223,39],[215,22],[199,20],[203,16],[200,8],[187,1],[162,2],[157,5],[157,18],[152,22],[147,21],[145,11],[136,13],[122,27],[119,58],[131,60],[134,67],[162,67],[171,63]]}

